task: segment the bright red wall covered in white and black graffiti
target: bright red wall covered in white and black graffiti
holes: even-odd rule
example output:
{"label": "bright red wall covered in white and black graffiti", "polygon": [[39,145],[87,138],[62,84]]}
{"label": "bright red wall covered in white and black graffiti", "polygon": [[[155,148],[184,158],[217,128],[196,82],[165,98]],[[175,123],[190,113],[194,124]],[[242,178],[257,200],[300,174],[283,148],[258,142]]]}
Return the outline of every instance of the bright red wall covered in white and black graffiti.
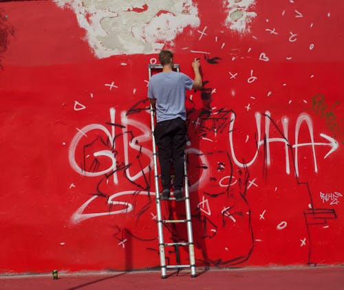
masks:
{"label": "bright red wall covered in white and black graffiti", "polygon": [[[221,2],[198,1],[200,27],[166,45],[190,76],[201,58],[205,82],[187,100],[197,265],[341,264],[344,3],[257,0],[238,34]],[[0,19],[0,271],[158,266],[157,54],[98,59],[51,1],[1,2]],[[166,241],[185,237],[166,228]]]}

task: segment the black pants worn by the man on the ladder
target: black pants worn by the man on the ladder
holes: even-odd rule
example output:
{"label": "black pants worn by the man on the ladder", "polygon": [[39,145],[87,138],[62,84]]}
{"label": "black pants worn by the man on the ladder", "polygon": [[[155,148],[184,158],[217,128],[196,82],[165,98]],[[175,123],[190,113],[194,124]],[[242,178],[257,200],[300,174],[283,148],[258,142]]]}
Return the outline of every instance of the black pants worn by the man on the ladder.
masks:
{"label": "black pants worn by the man on the ladder", "polygon": [[154,131],[158,146],[162,189],[171,188],[171,159],[173,160],[174,190],[181,190],[184,181],[184,150],[186,124],[181,118],[158,122]]}

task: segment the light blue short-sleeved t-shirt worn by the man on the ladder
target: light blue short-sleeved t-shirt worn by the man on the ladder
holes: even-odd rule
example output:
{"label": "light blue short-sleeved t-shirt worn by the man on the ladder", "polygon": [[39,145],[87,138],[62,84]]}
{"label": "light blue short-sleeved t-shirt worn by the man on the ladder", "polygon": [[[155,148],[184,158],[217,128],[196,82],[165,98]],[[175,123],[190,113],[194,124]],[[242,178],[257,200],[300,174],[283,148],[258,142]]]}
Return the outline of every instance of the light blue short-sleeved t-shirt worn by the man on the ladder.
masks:
{"label": "light blue short-sleeved t-shirt worn by the man on the ladder", "polygon": [[175,118],[186,120],[186,89],[192,89],[193,79],[181,72],[161,72],[148,83],[148,98],[155,99],[156,120],[162,122]]}

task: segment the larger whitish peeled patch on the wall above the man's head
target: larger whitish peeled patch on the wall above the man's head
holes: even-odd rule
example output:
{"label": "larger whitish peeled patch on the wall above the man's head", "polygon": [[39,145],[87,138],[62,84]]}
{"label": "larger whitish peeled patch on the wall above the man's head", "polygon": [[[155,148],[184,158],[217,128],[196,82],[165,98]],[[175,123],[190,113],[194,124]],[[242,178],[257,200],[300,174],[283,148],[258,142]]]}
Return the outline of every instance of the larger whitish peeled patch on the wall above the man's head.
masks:
{"label": "larger whitish peeled patch on the wall above the man's head", "polygon": [[192,0],[54,0],[74,10],[98,58],[118,54],[151,54],[185,27],[198,27]]}

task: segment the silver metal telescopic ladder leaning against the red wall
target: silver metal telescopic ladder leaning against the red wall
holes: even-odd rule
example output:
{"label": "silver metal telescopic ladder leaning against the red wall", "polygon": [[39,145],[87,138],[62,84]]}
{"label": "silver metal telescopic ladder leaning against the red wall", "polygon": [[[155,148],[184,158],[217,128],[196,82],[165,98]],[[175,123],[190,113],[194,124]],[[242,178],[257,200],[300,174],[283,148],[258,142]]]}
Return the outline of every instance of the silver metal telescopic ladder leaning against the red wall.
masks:
{"label": "silver metal telescopic ladder leaning against the red wall", "polygon": [[[175,64],[173,69],[180,71],[180,66]],[[152,76],[153,70],[162,70],[162,65],[150,64],[148,65],[149,71],[149,80]],[[157,222],[158,222],[158,236],[159,236],[159,254],[160,254],[160,267],[161,267],[161,277],[167,278],[166,270],[167,269],[178,269],[181,268],[190,268],[191,277],[196,277],[196,263],[195,263],[195,250],[193,245],[193,230],[191,224],[191,206],[190,206],[190,197],[189,197],[189,180],[186,170],[186,158],[184,155],[184,192],[185,197],[183,201],[185,202],[186,210],[186,219],[162,219],[161,213],[161,198],[159,190],[159,174],[158,174],[158,153],[156,152],[155,139],[154,139],[154,129],[155,129],[155,111],[151,106],[151,134],[152,134],[152,143],[153,143],[153,164],[154,164],[154,185],[155,185],[155,200],[156,200],[156,210],[157,210]],[[174,197],[170,197],[169,200],[175,200]],[[163,234],[163,225],[164,223],[186,223],[188,241],[187,243],[164,243],[164,234]],[[166,265],[165,259],[165,247],[175,247],[178,251],[179,246],[189,246],[189,265]]]}

